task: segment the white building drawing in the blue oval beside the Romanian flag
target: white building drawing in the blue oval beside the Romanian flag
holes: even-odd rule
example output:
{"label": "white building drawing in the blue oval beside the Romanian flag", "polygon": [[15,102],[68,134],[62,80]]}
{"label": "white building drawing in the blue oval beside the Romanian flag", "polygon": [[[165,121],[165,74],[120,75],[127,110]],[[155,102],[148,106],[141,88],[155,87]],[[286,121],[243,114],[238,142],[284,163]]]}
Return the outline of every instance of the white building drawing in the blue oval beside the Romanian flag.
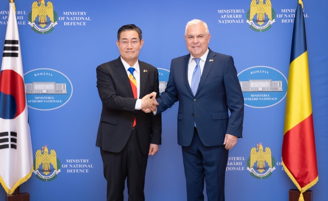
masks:
{"label": "white building drawing in the blue oval beside the Romanian flag", "polygon": [[282,92],[282,81],[249,80],[239,81],[242,92]]}

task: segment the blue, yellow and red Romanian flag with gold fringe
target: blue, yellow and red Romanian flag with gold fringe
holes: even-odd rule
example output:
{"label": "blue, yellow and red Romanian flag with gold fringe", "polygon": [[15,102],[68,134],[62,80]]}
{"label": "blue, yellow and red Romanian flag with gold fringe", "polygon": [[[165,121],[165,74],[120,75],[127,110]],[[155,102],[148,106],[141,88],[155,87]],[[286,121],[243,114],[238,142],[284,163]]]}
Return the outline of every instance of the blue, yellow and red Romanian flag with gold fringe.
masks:
{"label": "blue, yellow and red Romanian flag with gold fringe", "polygon": [[304,201],[302,193],[318,182],[308,50],[302,8],[303,3],[299,0],[294,21],[282,143],[282,165],[301,192],[299,201]]}

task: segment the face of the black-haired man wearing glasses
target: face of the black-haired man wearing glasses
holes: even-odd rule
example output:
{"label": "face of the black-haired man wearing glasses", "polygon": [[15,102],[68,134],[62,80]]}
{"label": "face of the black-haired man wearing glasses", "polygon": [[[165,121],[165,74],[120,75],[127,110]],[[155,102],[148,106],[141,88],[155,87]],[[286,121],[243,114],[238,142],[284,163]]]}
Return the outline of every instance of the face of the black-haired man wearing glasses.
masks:
{"label": "face of the black-haired man wearing glasses", "polygon": [[138,59],[142,44],[144,44],[144,40],[140,40],[138,32],[134,30],[122,31],[119,41],[116,41],[119,54],[128,63]]}

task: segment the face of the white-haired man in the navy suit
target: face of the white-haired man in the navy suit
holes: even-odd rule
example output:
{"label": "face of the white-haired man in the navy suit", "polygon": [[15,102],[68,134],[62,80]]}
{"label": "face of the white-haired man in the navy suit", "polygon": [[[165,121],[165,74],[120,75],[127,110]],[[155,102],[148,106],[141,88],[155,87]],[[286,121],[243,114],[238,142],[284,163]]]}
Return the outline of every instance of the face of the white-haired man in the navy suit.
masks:
{"label": "face of the white-haired man in the navy suit", "polygon": [[205,27],[203,25],[191,25],[187,28],[185,35],[187,49],[195,58],[200,58],[206,53],[211,34],[206,35]]}

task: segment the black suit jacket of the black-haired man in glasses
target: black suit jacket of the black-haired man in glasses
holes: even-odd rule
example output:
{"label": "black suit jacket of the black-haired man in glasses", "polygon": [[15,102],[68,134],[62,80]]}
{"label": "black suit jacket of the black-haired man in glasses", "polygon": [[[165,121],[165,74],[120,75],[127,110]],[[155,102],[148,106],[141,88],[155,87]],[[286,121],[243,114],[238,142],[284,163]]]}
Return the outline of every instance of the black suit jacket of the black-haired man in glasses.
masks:
{"label": "black suit jacket of the black-haired man in glasses", "polygon": [[[157,92],[159,97],[157,69],[142,61],[139,61],[139,67],[140,98],[152,92]],[[96,72],[98,93],[103,103],[96,146],[120,152],[129,140],[135,117],[141,151],[148,154],[151,143],[161,144],[161,116],[152,117],[142,110],[135,110],[137,99],[133,98],[130,80],[120,57],[99,65]]]}

